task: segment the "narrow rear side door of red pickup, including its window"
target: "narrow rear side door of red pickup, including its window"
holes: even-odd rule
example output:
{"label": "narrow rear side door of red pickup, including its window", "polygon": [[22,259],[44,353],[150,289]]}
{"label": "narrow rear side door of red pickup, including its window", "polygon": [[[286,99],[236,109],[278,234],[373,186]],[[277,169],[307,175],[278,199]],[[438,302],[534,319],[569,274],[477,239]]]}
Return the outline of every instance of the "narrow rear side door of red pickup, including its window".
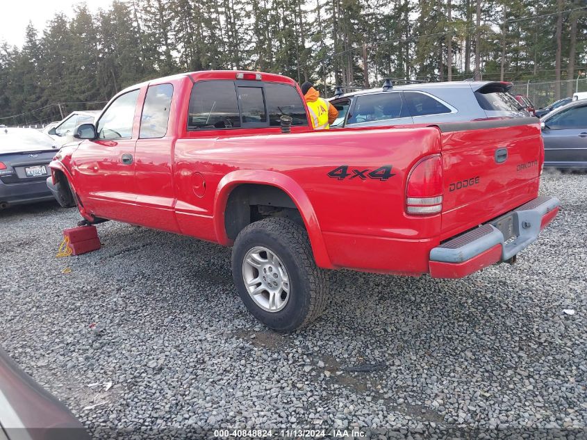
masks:
{"label": "narrow rear side door of red pickup, including its window", "polygon": [[149,84],[135,145],[135,186],[141,224],[179,232],[173,211],[174,137],[168,129],[173,96],[171,83]]}

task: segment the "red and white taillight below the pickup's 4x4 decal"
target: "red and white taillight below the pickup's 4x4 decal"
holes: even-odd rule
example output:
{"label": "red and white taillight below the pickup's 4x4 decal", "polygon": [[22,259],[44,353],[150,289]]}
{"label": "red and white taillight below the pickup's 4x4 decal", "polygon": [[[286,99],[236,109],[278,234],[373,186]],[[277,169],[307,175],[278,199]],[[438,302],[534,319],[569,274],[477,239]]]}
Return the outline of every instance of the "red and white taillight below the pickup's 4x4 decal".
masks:
{"label": "red and white taillight below the pickup's 4x4 decal", "polygon": [[423,158],[412,168],[406,189],[406,212],[436,214],[443,210],[443,161],[440,156]]}

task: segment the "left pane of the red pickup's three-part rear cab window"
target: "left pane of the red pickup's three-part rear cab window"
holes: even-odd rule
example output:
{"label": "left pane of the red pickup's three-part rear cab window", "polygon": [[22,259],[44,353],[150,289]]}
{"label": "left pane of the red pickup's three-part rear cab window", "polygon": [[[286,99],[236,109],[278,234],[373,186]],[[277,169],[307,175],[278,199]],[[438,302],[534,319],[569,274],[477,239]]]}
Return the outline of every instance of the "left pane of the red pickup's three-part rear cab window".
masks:
{"label": "left pane of the red pickup's three-part rear cab window", "polygon": [[188,130],[240,127],[236,91],[232,81],[195,83],[190,97]]}

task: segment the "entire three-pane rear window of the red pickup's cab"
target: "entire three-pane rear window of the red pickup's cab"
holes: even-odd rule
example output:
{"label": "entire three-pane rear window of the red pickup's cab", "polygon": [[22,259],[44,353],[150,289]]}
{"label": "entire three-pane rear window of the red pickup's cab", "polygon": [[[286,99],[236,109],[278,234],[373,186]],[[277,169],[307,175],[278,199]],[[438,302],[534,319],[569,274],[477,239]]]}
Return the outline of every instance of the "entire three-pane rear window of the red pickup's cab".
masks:
{"label": "entire three-pane rear window of the red pickup's cab", "polygon": [[192,87],[188,131],[279,127],[281,116],[292,126],[308,126],[306,108],[288,84],[254,81],[198,81]]}

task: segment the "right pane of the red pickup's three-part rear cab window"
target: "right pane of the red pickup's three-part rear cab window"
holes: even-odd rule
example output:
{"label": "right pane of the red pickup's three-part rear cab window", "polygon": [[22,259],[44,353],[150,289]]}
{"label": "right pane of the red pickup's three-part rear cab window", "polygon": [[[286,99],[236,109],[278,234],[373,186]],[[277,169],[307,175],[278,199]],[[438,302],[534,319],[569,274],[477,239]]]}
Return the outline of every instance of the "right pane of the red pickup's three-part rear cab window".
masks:
{"label": "right pane of the red pickup's three-part rear cab window", "polygon": [[295,88],[287,84],[265,83],[269,125],[279,127],[281,116],[292,117],[292,125],[308,125],[306,108]]}

